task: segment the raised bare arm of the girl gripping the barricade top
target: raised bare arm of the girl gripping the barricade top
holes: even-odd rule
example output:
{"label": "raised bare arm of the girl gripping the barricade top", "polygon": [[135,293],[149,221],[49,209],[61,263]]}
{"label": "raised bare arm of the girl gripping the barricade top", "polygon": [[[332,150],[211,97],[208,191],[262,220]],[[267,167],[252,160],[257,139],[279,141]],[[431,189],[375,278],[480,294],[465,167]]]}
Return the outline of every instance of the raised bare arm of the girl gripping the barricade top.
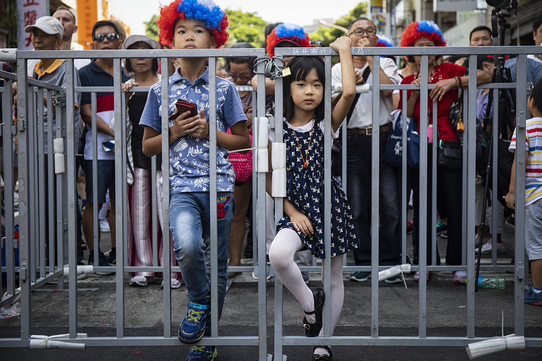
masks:
{"label": "raised bare arm of the girl gripping the barricade top", "polygon": [[347,36],[341,36],[330,44],[331,48],[339,52],[341,83],[343,84],[343,96],[340,97],[331,114],[331,128],[333,132],[337,132],[337,129],[343,123],[350,110],[354,96],[356,96],[356,74],[354,74],[354,64],[352,63],[352,54],[350,53],[351,45],[352,41]]}

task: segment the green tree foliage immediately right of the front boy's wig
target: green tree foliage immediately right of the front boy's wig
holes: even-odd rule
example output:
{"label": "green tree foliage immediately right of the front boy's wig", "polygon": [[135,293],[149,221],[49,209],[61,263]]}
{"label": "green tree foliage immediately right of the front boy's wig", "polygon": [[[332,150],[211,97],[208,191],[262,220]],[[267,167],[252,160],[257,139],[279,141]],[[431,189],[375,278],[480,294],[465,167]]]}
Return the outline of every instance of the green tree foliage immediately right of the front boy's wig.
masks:
{"label": "green tree foliage immediately right of the front boy's wig", "polygon": [[226,9],[226,15],[228,15],[228,32],[230,34],[228,45],[247,42],[256,48],[262,46],[263,29],[267,22],[256,12]]}

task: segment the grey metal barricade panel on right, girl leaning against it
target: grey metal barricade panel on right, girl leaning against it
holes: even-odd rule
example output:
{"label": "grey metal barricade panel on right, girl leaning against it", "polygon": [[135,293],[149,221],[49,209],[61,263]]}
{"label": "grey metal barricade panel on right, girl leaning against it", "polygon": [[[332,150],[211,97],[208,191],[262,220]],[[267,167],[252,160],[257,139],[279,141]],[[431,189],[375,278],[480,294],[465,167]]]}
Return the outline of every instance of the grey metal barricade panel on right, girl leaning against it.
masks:
{"label": "grey metal barricade panel on right, girl leaning against it", "polygon": [[[306,338],[299,336],[283,336],[282,333],[282,284],[280,280],[275,279],[275,342],[274,342],[274,354],[275,359],[280,359],[282,355],[282,346],[284,345],[390,345],[390,346],[405,346],[405,345],[417,345],[417,346],[459,346],[466,345],[473,339],[483,339],[475,336],[475,323],[474,323],[474,285],[475,285],[475,260],[474,260],[474,185],[475,185],[475,152],[476,152],[476,122],[468,121],[468,119],[476,119],[476,69],[478,55],[494,55],[494,54],[508,54],[518,55],[517,60],[517,83],[493,83],[484,84],[479,88],[490,88],[494,92],[495,99],[498,99],[497,91],[499,88],[514,88],[516,90],[516,124],[517,124],[517,139],[524,139],[525,137],[525,124],[527,119],[526,111],[526,68],[527,68],[527,54],[538,51],[535,47],[454,47],[454,48],[435,48],[435,47],[422,47],[422,48],[352,48],[351,52],[353,56],[372,56],[373,69],[380,68],[380,56],[409,56],[417,55],[421,56],[421,84],[428,84],[428,56],[429,55],[454,55],[464,54],[469,56],[469,69],[471,69],[469,76],[468,89],[466,89],[466,102],[463,106],[463,119],[466,124],[464,144],[463,144],[463,234],[462,234],[462,252],[463,262],[461,266],[437,266],[436,265],[436,222],[432,225],[432,255],[433,264],[427,264],[427,244],[423,242],[427,239],[427,216],[423,216],[431,212],[433,220],[436,219],[436,197],[433,196],[433,202],[429,205],[427,202],[427,196],[425,194],[428,187],[428,178],[433,179],[432,193],[436,194],[436,141],[433,141],[432,145],[428,143],[428,113],[421,111],[420,119],[420,259],[419,266],[412,266],[413,271],[418,271],[422,275],[420,277],[419,284],[419,305],[418,305],[418,336],[417,337],[389,337],[379,336],[379,286],[378,286],[378,272],[389,268],[389,266],[378,265],[378,238],[379,238],[379,94],[380,90],[398,89],[403,92],[403,109],[406,109],[406,90],[417,89],[412,85],[383,85],[380,84],[379,72],[373,73],[373,83],[371,89],[373,91],[372,96],[372,170],[371,170],[371,266],[347,266],[343,268],[343,271],[370,271],[371,272],[371,334],[370,336],[341,336],[332,337],[330,330],[330,312],[331,304],[326,302],[324,304],[324,337],[322,338]],[[281,56],[321,56],[325,58],[325,71],[326,80],[331,79],[331,56],[338,55],[332,49],[329,48],[280,48],[276,49],[276,55]],[[496,58],[496,57],[495,57]],[[428,108],[428,94],[429,90],[434,87],[433,84],[422,86],[420,88],[420,109]],[[331,87],[330,84],[326,84],[324,100],[325,102],[325,146],[324,146],[324,159],[325,159],[325,179],[330,179],[331,176]],[[282,103],[282,80],[279,79],[275,82],[275,104]],[[495,107],[496,109],[496,107]],[[437,102],[433,102],[433,139],[437,139],[437,127],[436,127],[436,112]],[[282,109],[277,107],[275,109],[275,118],[282,119]],[[498,110],[493,112],[493,121],[498,119]],[[406,124],[406,113],[403,111],[403,124]],[[343,144],[346,143],[346,122],[342,125]],[[276,141],[282,142],[282,122],[275,122]],[[497,133],[493,132],[494,140]],[[406,126],[403,126],[403,140],[406,139]],[[493,169],[496,169],[496,144],[493,142]],[[433,172],[428,174],[428,147],[433,147],[433,157],[431,160],[433,163]],[[402,212],[402,260],[406,261],[406,224],[405,213],[406,205],[404,199],[406,199],[406,186],[404,179],[406,176],[406,142],[403,141],[403,164],[402,164],[402,200],[403,200],[403,212]],[[521,159],[525,159],[525,149],[521,147],[517,148],[516,169],[518,177],[516,179],[515,189],[525,189],[525,162]],[[343,147],[343,186],[346,188],[346,151]],[[493,174],[493,186],[496,186],[496,172]],[[496,189],[496,187],[493,187]],[[525,194],[520,192],[519,198],[516,199],[515,219],[524,220],[525,218]],[[496,204],[496,192],[493,192],[493,204]],[[493,213],[496,212],[494,207]],[[275,205],[275,221],[280,219],[282,215],[282,205]],[[493,218],[494,220],[496,217]],[[331,185],[329,182],[325,183],[324,190],[324,232],[325,232],[325,253],[331,252]],[[496,234],[496,222],[493,222],[493,234]],[[495,242],[495,241],[494,241]],[[493,243],[492,265],[480,267],[481,270],[513,270],[514,271],[514,331],[516,334],[524,335],[524,286],[525,277],[527,277],[527,263],[525,255],[525,224],[520,222],[515,226],[515,255],[514,266],[502,266],[496,265],[495,257],[495,243]],[[301,270],[317,271],[315,267],[300,267]],[[467,271],[467,330],[466,337],[428,337],[427,336],[427,279],[423,275],[427,271]],[[331,265],[330,262],[323,262],[322,273],[324,274],[324,280],[329,280],[331,277]],[[324,282],[324,291],[329,294],[331,285],[329,282]],[[527,346],[542,346],[542,338],[526,338]]]}

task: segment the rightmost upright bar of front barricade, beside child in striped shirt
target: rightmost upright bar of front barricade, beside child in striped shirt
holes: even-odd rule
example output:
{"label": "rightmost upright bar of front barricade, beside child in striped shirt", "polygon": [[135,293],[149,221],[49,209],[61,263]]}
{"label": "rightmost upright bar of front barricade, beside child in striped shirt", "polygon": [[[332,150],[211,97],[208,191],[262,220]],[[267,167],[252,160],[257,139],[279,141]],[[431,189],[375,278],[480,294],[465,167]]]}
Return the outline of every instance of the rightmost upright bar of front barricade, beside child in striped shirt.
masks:
{"label": "rightmost upright bar of front barricade, beside child in striped shirt", "polygon": [[[525,147],[522,140],[525,139],[525,127],[527,120],[525,99],[526,89],[527,56],[518,56],[517,66],[517,89],[516,89],[516,162],[515,162],[515,277],[514,277],[514,333],[518,336],[525,335],[525,279],[528,278],[528,262],[525,262]],[[524,266],[525,265],[525,266]]]}

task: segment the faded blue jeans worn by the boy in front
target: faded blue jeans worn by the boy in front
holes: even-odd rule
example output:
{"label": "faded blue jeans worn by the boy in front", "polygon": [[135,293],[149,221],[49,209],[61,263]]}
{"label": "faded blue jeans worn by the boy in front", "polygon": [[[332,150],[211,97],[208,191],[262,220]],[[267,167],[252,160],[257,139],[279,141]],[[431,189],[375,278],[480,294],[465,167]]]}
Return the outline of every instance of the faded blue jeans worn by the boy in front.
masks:
{"label": "faded blue jeans worn by the boy in front", "polygon": [[[216,202],[220,318],[228,282],[228,237],[235,210],[233,192],[218,192]],[[209,304],[211,299],[209,208],[209,192],[177,193],[170,198],[170,231],[175,245],[173,251],[183,273],[188,298],[198,304]]]}

